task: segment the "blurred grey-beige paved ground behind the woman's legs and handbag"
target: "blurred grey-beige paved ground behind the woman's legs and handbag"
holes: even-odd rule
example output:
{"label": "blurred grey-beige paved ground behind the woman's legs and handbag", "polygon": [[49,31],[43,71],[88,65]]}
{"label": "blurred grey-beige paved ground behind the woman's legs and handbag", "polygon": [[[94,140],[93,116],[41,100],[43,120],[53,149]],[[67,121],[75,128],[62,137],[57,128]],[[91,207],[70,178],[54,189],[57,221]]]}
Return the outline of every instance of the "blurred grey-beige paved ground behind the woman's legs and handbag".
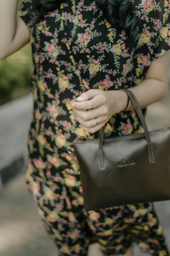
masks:
{"label": "blurred grey-beige paved ground behind the woman's legs and handbag", "polygon": [[[170,125],[170,93],[166,99],[148,109],[149,129]],[[158,215],[170,247],[170,202],[156,203]],[[57,249],[46,234],[24,177],[18,176],[0,192],[0,255],[1,256],[58,256]],[[95,244],[89,256],[102,256]],[[135,247],[135,256],[141,256]]]}

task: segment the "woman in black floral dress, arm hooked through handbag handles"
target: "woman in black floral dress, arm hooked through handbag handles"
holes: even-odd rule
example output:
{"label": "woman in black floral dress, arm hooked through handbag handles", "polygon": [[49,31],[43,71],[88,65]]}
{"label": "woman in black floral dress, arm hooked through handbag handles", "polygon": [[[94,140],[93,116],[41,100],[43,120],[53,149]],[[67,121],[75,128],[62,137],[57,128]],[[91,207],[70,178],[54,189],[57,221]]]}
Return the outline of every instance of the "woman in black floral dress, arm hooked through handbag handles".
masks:
{"label": "woman in black floral dress, arm hooked through handbag handles", "polygon": [[[132,255],[132,243],[169,255],[153,204],[86,212],[72,141],[140,133],[120,88],[143,113],[168,89],[170,1],[17,0],[0,2],[0,57],[30,40],[34,117],[26,172],[45,226],[60,255],[87,256],[99,242],[105,256]],[[87,110],[87,111],[85,111]],[[139,177],[140,178],[140,177]]]}

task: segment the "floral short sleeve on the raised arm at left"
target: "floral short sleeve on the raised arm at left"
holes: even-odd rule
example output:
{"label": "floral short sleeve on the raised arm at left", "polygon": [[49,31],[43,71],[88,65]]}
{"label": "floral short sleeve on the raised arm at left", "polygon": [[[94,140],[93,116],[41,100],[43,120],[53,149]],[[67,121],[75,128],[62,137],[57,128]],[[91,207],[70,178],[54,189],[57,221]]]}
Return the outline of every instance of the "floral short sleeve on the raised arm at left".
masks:
{"label": "floral short sleeve on the raised arm at left", "polygon": [[18,16],[22,18],[25,24],[30,28],[29,12],[32,9],[32,0],[22,0],[19,10],[17,11]]}

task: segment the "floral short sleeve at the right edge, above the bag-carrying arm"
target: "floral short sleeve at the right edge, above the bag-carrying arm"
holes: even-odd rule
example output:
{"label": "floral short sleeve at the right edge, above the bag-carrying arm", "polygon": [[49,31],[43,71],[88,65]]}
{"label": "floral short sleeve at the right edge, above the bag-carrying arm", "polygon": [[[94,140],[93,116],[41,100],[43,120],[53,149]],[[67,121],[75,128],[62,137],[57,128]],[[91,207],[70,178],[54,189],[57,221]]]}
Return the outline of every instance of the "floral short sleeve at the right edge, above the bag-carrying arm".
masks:
{"label": "floral short sleeve at the right edge, above the bag-carrying arm", "polygon": [[[153,19],[153,27],[157,35],[154,45],[152,59],[155,60],[170,50],[170,1],[161,1],[159,15]],[[161,14],[161,15],[160,15]]]}

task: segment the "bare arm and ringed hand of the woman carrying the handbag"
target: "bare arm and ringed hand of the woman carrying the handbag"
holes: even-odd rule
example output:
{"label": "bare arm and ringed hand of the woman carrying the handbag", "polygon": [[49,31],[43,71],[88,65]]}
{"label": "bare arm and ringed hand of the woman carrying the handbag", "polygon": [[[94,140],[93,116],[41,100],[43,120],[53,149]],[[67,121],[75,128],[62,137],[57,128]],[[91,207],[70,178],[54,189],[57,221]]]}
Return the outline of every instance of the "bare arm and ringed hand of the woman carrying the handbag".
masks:
{"label": "bare arm and ringed hand of the woman carrying the handbag", "polygon": [[[141,108],[165,97],[168,90],[169,58],[170,51],[153,61],[146,79],[130,89],[135,94]],[[85,131],[94,133],[103,127],[112,115],[123,111],[127,104],[127,95],[120,90],[92,89],[84,92],[77,98],[77,101],[71,106],[74,108],[78,122]],[[133,109],[132,102],[130,102],[127,110]],[[95,118],[99,122],[97,125]]]}

